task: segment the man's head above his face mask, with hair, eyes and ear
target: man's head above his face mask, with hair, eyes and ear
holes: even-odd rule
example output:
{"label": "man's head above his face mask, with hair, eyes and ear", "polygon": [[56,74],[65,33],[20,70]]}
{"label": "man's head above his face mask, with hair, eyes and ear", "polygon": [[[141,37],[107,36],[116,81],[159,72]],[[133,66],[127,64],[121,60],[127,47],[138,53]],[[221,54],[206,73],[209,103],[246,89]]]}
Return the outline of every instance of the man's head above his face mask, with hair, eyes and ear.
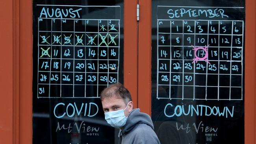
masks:
{"label": "man's head above his face mask, with hair, eyes and ear", "polygon": [[104,89],[100,99],[105,113],[125,109],[124,115],[128,116],[133,108],[131,94],[121,83],[112,84]]}

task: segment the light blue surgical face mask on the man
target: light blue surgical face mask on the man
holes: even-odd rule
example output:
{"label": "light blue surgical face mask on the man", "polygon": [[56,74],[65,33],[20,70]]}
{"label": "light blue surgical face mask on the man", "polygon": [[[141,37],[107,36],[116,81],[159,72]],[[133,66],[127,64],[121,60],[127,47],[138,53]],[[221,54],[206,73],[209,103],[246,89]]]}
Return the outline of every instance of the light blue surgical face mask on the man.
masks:
{"label": "light blue surgical face mask on the man", "polygon": [[[125,109],[127,108],[128,104],[126,105]],[[126,124],[127,118],[124,115],[124,110],[121,109],[119,111],[109,111],[104,113],[105,120],[110,124],[112,127],[119,128]]]}

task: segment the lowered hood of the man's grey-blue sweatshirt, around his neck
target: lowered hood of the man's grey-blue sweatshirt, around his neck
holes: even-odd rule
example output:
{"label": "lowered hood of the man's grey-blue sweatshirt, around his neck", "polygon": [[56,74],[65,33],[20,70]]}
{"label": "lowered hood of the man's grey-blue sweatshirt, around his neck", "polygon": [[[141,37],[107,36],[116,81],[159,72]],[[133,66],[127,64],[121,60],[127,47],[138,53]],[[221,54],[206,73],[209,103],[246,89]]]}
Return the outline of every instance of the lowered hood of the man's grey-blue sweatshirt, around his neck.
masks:
{"label": "lowered hood of the man's grey-blue sweatshirt, around his neck", "polygon": [[122,135],[132,131],[137,124],[147,124],[154,130],[152,120],[148,114],[141,113],[140,109],[133,109],[128,115],[126,124],[122,127]]}

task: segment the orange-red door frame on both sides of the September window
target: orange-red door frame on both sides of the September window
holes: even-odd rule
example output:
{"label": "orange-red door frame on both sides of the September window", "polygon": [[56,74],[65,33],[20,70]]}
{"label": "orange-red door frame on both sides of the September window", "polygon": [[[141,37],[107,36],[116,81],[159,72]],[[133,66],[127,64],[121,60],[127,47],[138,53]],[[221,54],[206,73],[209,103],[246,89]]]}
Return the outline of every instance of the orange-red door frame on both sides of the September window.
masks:
{"label": "orange-red door frame on both sides of the September window", "polygon": [[[139,0],[138,106],[151,114],[151,1]],[[245,144],[256,140],[256,2],[245,0]]]}

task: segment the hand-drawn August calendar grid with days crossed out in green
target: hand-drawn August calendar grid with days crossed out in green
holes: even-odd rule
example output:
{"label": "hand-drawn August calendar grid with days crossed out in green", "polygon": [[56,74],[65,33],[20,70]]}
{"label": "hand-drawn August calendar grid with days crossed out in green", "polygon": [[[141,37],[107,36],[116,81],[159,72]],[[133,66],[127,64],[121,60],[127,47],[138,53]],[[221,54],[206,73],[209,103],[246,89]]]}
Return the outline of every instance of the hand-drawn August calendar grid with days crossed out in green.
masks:
{"label": "hand-drawn August calendar grid with days crossed out in green", "polygon": [[118,81],[120,19],[38,18],[38,98],[99,98]]}

